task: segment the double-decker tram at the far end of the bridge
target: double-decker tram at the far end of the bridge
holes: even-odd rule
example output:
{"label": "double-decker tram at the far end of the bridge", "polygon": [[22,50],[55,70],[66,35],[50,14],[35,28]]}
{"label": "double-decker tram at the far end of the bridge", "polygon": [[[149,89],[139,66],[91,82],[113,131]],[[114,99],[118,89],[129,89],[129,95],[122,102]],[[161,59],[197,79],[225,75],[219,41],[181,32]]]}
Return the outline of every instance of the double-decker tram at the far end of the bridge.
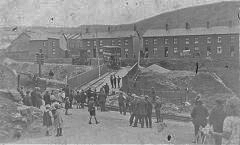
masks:
{"label": "double-decker tram at the far end of the bridge", "polygon": [[121,66],[121,50],[119,46],[103,46],[103,60],[109,68],[119,69]]}

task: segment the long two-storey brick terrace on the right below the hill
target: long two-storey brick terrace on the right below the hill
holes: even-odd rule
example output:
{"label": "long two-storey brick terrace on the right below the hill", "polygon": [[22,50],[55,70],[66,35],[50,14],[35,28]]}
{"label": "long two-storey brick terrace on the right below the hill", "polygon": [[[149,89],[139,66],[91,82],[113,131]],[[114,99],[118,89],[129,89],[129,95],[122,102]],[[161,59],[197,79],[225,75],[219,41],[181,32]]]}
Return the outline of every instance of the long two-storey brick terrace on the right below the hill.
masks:
{"label": "long two-storey brick terrace on the right below the hill", "polygon": [[[149,58],[212,58],[239,61],[239,27],[214,26],[150,29],[143,35]],[[146,56],[146,55],[145,55]]]}

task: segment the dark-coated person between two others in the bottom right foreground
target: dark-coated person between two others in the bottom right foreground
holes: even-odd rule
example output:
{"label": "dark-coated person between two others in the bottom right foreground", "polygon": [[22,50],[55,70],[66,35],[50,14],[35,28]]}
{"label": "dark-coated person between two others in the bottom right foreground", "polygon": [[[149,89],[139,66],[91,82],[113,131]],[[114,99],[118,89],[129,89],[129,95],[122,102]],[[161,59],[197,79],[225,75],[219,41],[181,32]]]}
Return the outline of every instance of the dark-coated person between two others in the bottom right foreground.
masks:
{"label": "dark-coated person between two others in the bottom right foreground", "polygon": [[[226,112],[224,111],[223,100],[216,100],[216,106],[212,109],[209,115],[209,124],[212,125],[213,131],[217,133],[223,132],[223,122],[226,118]],[[222,144],[222,137],[214,136],[215,145]]]}

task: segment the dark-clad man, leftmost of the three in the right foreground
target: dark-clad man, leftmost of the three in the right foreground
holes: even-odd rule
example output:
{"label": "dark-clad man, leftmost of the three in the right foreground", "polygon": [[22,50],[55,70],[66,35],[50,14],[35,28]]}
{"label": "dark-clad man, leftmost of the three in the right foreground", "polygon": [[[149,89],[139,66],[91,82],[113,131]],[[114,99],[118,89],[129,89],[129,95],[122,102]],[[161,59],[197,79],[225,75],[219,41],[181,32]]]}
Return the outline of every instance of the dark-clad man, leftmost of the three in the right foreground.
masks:
{"label": "dark-clad man, leftmost of the three in the right foreground", "polygon": [[204,128],[207,125],[207,117],[209,116],[208,110],[205,106],[203,106],[203,102],[198,100],[196,102],[196,106],[193,108],[191,112],[192,122],[194,125],[194,133],[195,133],[195,140],[194,143],[198,142],[198,132],[200,126]]}

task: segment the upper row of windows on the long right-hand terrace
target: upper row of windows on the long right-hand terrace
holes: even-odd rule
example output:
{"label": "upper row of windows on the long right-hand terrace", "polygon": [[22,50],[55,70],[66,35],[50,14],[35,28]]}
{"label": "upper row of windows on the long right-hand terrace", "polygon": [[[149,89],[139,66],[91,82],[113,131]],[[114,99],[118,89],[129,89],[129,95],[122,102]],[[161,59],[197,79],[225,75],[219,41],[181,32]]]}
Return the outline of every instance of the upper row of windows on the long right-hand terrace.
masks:
{"label": "upper row of windows on the long right-hand terrace", "polygon": [[[154,45],[157,45],[157,40],[158,39],[153,39],[153,44]],[[231,36],[230,41],[234,42],[235,37]],[[217,42],[222,43],[222,37],[221,36],[217,37]],[[199,43],[198,37],[195,37],[194,38],[194,44],[198,44],[198,43]],[[208,44],[212,43],[212,38],[211,37],[207,37],[207,43]],[[148,44],[149,44],[149,40],[145,40],[145,45],[148,45]],[[168,38],[164,38],[164,44],[169,44],[169,39]],[[177,38],[173,38],[173,44],[178,44],[178,39]],[[185,44],[190,44],[190,39],[189,38],[185,38]]]}

